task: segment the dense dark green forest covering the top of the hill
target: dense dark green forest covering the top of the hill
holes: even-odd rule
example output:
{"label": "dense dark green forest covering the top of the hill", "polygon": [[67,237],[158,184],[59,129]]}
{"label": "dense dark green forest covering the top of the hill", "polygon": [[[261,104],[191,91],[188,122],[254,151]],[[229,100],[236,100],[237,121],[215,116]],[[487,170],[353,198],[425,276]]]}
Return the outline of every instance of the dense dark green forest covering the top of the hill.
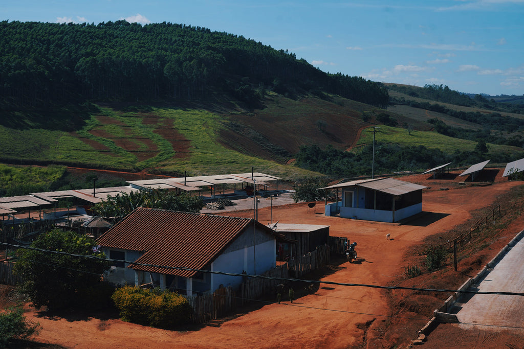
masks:
{"label": "dense dark green forest covering the top of the hill", "polygon": [[0,103],[51,109],[85,101],[210,100],[254,105],[268,90],[388,104],[387,89],[328,74],[287,50],[179,24],[0,22]]}

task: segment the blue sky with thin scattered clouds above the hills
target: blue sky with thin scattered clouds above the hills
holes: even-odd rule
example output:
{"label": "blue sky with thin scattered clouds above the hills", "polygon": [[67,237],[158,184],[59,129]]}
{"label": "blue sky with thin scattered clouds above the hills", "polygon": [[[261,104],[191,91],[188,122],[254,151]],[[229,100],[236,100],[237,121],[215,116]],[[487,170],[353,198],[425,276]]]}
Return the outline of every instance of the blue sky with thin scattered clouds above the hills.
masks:
{"label": "blue sky with thin scattered clouds above the hills", "polygon": [[466,93],[524,94],[524,0],[4,0],[0,20],[224,31],[331,73]]}

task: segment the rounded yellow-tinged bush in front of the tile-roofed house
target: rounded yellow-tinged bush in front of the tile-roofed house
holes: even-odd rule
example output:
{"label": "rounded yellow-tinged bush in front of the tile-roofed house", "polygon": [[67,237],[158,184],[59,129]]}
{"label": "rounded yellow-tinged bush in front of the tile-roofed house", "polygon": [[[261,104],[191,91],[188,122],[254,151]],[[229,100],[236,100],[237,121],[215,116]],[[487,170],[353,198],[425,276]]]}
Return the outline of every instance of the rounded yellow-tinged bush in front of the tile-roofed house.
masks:
{"label": "rounded yellow-tinged bush in front of the tile-roofed house", "polygon": [[187,299],[168,290],[135,286],[118,288],[111,297],[123,321],[158,328],[187,323],[193,311]]}

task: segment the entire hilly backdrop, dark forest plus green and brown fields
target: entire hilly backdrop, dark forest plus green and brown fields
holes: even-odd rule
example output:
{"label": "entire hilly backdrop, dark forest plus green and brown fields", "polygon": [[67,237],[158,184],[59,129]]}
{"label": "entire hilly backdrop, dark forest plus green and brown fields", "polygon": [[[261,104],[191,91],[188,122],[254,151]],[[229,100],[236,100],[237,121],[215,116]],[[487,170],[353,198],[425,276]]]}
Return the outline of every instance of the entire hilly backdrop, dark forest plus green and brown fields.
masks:
{"label": "entire hilly backdrop, dark forest plus green and brown fields", "polygon": [[326,74],[242,36],[126,21],[0,32],[0,162],[369,175],[372,126],[384,172],[522,157],[518,105]]}

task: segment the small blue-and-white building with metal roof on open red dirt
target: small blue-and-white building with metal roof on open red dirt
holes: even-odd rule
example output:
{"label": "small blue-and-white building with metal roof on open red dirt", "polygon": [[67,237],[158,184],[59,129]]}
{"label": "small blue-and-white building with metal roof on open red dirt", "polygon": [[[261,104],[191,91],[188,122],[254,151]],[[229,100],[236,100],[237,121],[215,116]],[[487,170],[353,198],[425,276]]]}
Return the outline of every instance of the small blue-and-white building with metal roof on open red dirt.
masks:
{"label": "small blue-and-white building with metal roof on open red dirt", "polygon": [[342,201],[325,205],[326,216],[398,222],[422,212],[422,185],[394,178],[361,179],[320,189],[342,190]]}

